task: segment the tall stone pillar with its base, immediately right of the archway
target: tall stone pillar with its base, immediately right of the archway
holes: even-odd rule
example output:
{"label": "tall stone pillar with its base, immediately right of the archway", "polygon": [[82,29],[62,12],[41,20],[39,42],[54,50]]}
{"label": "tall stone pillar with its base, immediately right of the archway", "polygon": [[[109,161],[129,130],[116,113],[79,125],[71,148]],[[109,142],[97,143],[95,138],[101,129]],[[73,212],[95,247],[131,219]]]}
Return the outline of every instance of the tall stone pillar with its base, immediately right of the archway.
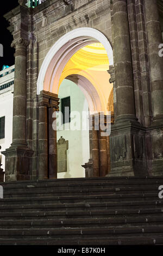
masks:
{"label": "tall stone pillar with its base, immediately right of the archway", "polygon": [[[112,29],[116,115],[115,123],[111,125],[109,139],[111,160],[109,176],[145,176],[147,175],[145,130],[138,123],[135,112],[127,0],[112,0]],[[111,70],[109,73],[112,75]]]}

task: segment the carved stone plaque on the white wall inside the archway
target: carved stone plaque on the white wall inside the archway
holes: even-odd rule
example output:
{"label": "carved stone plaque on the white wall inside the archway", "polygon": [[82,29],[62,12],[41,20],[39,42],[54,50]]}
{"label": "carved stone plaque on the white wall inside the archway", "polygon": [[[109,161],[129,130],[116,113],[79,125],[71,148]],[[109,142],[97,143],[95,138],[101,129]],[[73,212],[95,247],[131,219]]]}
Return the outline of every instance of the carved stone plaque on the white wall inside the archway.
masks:
{"label": "carved stone plaque on the white wall inside the archway", "polygon": [[57,143],[57,172],[67,172],[68,141],[61,136]]}

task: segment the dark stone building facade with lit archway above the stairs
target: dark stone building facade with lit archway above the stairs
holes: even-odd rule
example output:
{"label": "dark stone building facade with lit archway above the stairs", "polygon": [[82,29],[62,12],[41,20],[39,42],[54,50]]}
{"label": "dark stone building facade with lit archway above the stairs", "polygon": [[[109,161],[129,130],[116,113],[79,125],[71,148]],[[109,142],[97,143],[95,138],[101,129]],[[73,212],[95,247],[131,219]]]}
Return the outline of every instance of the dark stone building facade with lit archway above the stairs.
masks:
{"label": "dark stone building facade with lit archway above the stairs", "polygon": [[[33,1],[35,8],[19,2],[5,15],[15,47],[6,180],[57,178],[52,123],[64,79],[83,90],[93,114],[102,112],[106,120],[107,111],[114,111],[109,138],[94,122],[87,176],[162,175],[163,2],[47,0]],[[86,67],[80,51],[89,56]],[[78,63],[71,66],[75,54]]]}

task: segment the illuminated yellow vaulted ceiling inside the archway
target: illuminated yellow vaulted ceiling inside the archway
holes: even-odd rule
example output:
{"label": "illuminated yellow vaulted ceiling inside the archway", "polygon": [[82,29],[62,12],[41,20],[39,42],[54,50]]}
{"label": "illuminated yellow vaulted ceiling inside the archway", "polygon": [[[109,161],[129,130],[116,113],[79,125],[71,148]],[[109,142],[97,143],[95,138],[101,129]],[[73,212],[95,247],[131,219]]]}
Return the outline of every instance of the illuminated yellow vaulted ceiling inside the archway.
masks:
{"label": "illuminated yellow vaulted ceiling inside the archway", "polygon": [[[99,95],[102,111],[108,111],[108,99],[112,86],[109,85],[109,59],[101,43],[90,44],[77,51],[65,65],[60,82],[68,76],[80,75],[85,77],[95,87]],[[92,92],[93,94],[93,92]],[[90,94],[92,97],[92,95]],[[96,111],[101,111],[96,109]]]}

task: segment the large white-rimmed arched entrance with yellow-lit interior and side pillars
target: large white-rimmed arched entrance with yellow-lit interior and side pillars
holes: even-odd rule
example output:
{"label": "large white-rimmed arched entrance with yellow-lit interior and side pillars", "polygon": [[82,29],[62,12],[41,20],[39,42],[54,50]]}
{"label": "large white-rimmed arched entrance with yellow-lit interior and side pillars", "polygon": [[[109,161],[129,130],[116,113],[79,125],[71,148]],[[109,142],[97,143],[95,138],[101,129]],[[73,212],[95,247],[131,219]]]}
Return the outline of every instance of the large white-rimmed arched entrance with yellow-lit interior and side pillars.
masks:
{"label": "large white-rimmed arched entrance with yellow-lit interior and side pillars", "polygon": [[[81,56],[82,60],[80,59]],[[84,58],[86,60],[84,60]],[[92,64],[89,61],[90,59],[93,62]],[[74,63],[76,65],[74,65]],[[110,169],[110,163],[108,161],[109,140],[108,138],[101,136],[101,131],[97,129],[97,122],[95,119],[99,118],[99,113],[103,113],[104,123],[106,122],[105,117],[108,114],[108,100],[112,90],[112,86],[109,85],[110,77],[107,72],[109,64],[113,64],[111,45],[101,32],[92,28],[79,28],[67,33],[65,36],[62,36],[62,38],[57,41],[48,52],[42,63],[37,81],[37,94],[40,97],[40,178],[46,178],[47,175],[48,178],[57,178],[57,176],[59,178],[74,178],[78,176],[71,175],[74,171],[69,174],[65,173],[64,175],[57,175],[57,166],[59,166],[59,163],[61,163],[62,168],[65,168],[65,161],[57,157],[57,151],[59,152],[58,156],[62,154],[61,151],[57,149],[58,144],[59,146],[61,143],[65,144],[65,146],[62,145],[62,147],[67,147],[64,150],[69,150],[66,142],[71,142],[71,137],[73,137],[73,135],[72,133],[71,135],[70,133],[67,135],[65,129],[62,132],[59,131],[59,135],[57,135],[54,126],[53,131],[51,127],[54,121],[54,108],[55,111],[61,108],[61,102],[59,103],[58,97],[61,101],[67,99],[67,97],[71,98],[71,95],[65,94],[65,92],[68,86],[73,87],[74,84],[78,86],[86,100],[89,109],[89,117],[92,118],[93,115],[92,130],[87,130],[89,139],[87,143],[85,141],[85,145],[83,146],[85,147],[85,151],[88,151],[87,147],[89,147],[87,163],[83,162],[81,164],[81,161],[78,159],[78,162],[80,163],[79,168],[81,168],[81,166],[85,168],[84,176],[87,177],[105,176],[108,174]],[[65,84],[67,85],[65,86]],[[65,89],[63,88],[64,86]],[[60,91],[61,88],[62,90]],[[82,98],[82,94],[81,97],[79,96],[80,99]],[[42,103],[43,101],[45,102],[45,99],[46,102],[48,102],[48,109],[46,109],[47,105]],[[79,112],[81,111],[82,109],[79,110]],[[46,120],[43,120],[41,117],[43,113],[48,113]],[[52,116],[53,120],[51,120]],[[44,123],[45,126],[43,126],[42,123]],[[47,133],[46,129],[48,130]],[[43,133],[45,136],[43,136]],[[87,135],[85,133],[84,136]],[[70,147],[71,150],[72,148],[73,150],[75,150],[75,148],[77,149],[77,147],[79,148],[79,144],[82,142],[81,136],[79,136],[79,138],[80,141],[77,140],[77,144],[73,144],[73,147]],[[47,148],[43,158],[42,148]],[[82,149],[82,151],[84,151],[84,149]],[[68,151],[68,155],[72,155],[72,152],[70,153],[70,151]],[[70,159],[72,159],[72,157],[70,157]],[[66,159],[66,161],[68,162],[69,160]],[[73,169],[72,161],[70,165]]]}

